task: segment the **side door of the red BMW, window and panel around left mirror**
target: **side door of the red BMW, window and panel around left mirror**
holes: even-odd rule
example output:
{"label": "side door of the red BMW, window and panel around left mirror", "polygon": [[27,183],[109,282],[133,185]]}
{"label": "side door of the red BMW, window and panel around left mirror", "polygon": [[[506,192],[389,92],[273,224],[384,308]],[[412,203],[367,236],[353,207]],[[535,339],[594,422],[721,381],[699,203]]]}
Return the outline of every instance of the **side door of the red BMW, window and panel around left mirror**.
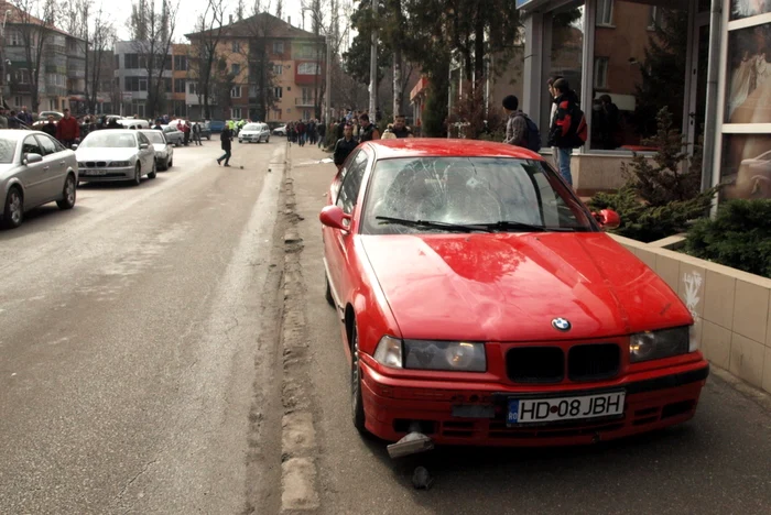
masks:
{"label": "side door of the red BMW, window and panel around left mirror", "polygon": [[[346,215],[354,215],[356,201],[361,189],[361,182],[367,169],[368,156],[360,150],[347,163],[346,173],[341,177],[339,190],[335,199],[335,205],[343,209]],[[334,195],[334,193],[333,193]],[[350,281],[350,251],[352,245],[352,233],[334,228],[325,228],[324,248],[329,269],[329,281],[338,298],[349,298],[349,289],[352,285]]]}

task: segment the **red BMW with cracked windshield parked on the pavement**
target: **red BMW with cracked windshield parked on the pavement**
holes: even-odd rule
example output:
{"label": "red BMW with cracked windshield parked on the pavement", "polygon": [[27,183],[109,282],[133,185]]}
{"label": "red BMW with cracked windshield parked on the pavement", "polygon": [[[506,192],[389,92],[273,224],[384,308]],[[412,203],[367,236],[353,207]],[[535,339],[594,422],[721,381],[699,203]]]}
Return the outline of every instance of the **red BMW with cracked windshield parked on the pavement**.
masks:
{"label": "red BMW with cracked windshield parked on the pavement", "polygon": [[540,155],[367,142],[319,218],[354,424],[401,439],[392,456],[590,443],[694,416],[709,368],[691,313],[602,232],[618,215],[589,212]]}

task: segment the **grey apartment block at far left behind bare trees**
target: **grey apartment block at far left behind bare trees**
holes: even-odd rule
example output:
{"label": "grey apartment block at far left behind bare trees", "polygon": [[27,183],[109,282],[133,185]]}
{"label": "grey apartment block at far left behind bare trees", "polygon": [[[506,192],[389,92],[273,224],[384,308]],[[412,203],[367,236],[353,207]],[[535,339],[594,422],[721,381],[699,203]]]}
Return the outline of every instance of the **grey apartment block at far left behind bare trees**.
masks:
{"label": "grey apartment block at far left behind bare trees", "polygon": [[[30,110],[61,111],[69,107],[70,95],[86,87],[86,44],[83,40],[45,23],[12,3],[0,2],[6,13],[2,61],[6,69],[3,96],[11,108],[26,106]],[[35,47],[42,41],[42,50]],[[28,52],[28,46],[33,45]],[[37,106],[33,106],[34,77],[30,70],[37,65]],[[30,58],[31,57],[31,58]],[[10,64],[9,64],[10,63]]]}

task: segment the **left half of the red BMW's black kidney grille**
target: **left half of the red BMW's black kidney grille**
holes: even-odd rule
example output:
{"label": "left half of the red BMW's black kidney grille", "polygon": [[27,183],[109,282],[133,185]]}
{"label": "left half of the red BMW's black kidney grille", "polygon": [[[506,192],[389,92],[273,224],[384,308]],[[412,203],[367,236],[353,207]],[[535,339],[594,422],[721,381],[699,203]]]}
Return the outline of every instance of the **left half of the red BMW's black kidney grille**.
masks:
{"label": "left half of the red BMW's black kidney grille", "polygon": [[558,347],[515,347],[506,354],[515,383],[558,383],[565,377],[565,353]]}

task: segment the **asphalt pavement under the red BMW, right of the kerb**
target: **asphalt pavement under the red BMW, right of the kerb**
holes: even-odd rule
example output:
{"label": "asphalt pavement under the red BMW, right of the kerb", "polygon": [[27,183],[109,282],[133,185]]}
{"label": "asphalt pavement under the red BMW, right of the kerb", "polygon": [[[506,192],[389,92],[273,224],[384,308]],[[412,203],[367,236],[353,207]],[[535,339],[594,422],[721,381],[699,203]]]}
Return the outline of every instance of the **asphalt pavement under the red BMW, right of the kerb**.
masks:
{"label": "asphalt pavement under the red BMW, right of the kerb", "polygon": [[[567,449],[442,448],[399,461],[349,416],[349,368],[324,300],[318,211],[335,168],[292,147],[312,351],[322,512],[329,514],[768,514],[771,413],[713,374],[696,417],[645,436]],[[765,399],[767,401],[767,399]],[[434,475],[414,490],[415,467]]]}

